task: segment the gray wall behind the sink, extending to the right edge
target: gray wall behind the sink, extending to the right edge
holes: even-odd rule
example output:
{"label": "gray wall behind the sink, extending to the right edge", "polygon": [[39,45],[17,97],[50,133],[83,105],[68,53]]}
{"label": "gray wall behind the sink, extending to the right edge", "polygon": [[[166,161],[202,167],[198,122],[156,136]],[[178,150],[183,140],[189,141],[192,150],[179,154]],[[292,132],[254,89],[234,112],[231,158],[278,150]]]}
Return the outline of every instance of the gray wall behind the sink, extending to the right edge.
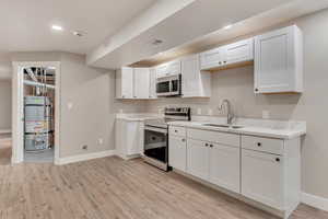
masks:
{"label": "gray wall behind the sink, extending to the right edge", "polygon": [[[223,99],[233,101],[243,117],[260,118],[270,111],[272,118],[307,122],[302,148],[302,187],[305,193],[328,198],[328,10],[294,21],[304,34],[304,87],[302,95],[255,95],[253,67],[230,69],[212,74],[212,97],[207,100],[169,99],[149,101],[148,112],[167,104],[190,105],[206,113]],[[293,23],[293,22],[291,22]]]}

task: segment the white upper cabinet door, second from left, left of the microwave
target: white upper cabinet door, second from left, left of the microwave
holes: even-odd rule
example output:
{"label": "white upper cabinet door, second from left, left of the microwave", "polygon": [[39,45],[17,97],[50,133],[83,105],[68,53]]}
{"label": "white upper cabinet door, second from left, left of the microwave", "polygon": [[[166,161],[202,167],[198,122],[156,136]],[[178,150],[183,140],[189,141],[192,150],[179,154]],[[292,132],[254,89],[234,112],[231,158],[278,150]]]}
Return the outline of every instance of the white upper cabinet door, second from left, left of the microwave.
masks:
{"label": "white upper cabinet door, second from left, left of the microwave", "polygon": [[134,68],[134,99],[149,99],[149,68]]}

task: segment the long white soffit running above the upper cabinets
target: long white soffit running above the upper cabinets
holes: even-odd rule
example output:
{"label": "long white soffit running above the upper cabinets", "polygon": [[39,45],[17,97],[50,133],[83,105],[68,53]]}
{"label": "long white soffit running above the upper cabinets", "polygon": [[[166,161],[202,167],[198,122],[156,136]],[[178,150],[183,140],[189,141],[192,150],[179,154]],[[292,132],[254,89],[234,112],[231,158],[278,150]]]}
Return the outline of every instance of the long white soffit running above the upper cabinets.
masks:
{"label": "long white soffit running above the upper cabinets", "polygon": [[[115,49],[95,49],[89,54],[87,64],[108,69],[152,67],[325,8],[328,1],[320,0],[196,0]],[[232,28],[224,30],[229,24],[233,24]],[[153,45],[154,39],[163,43]]]}

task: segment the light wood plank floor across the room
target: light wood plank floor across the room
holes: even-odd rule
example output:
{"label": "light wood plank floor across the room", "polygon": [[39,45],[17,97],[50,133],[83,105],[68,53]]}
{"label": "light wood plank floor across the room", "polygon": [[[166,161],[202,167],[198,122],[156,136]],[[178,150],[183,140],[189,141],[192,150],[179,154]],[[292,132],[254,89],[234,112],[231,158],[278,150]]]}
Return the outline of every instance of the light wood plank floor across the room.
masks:
{"label": "light wood plank floor across the room", "polygon": [[[122,161],[112,157],[62,166],[0,164],[0,218],[276,217],[176,173],[164,173],[141,160]],[[301,205],[292,216],[292,219],[315,218],[328,218],[328,214]]]}

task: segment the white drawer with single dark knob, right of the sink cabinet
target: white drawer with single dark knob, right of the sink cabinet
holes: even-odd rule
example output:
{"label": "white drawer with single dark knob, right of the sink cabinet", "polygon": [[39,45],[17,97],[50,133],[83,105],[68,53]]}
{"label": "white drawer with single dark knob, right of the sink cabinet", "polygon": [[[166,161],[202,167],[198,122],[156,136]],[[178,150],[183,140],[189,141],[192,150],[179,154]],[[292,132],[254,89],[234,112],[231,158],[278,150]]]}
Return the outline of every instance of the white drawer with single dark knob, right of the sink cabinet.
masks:
{"label": "white drawer with single dark knob, right of the sink cabinet", "polygon": [[274,154],[283,154],[283,140],[260,138],[254,136],[242,136],[242,148]]}

